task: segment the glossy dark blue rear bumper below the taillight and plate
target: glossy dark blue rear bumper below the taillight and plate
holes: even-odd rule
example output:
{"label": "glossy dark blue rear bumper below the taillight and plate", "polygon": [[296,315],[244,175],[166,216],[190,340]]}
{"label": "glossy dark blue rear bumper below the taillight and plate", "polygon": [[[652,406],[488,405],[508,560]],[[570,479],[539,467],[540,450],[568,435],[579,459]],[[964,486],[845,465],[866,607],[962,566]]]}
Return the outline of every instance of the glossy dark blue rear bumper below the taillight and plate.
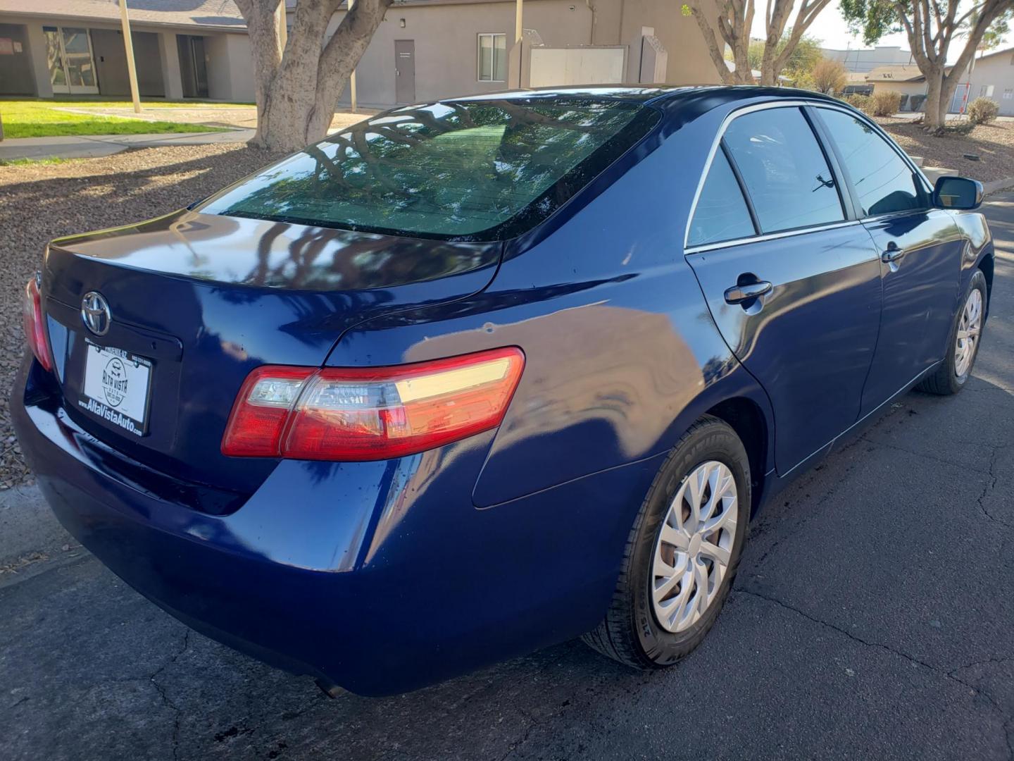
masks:
{"label": "glossy dark blue rear bumper below the taillight and plate", "polygon": [[592,628],[660,462],[477,509],[480,435],[382,463],[283,461],[235,512],[206,514],[125,479],[59,404],[40,402],[38,371],[22,366],[11,413],[71,534],[198,631],[364,695]]}

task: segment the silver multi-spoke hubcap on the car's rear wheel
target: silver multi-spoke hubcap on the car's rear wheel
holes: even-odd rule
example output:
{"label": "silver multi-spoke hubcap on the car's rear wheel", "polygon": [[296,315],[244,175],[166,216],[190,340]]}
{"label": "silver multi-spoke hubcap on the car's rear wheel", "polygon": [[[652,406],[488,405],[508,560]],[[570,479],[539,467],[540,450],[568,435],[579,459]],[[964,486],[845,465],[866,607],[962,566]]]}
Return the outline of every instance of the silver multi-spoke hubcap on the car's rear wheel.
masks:
{"label": "silver multi-spoke hubcap on the car's rear wheel", "polygon": [[729,569],[736,540],[736,480],[722,463],[683,479],[662,522],[651,572],[651,602],[663,629],[683,631],[708,610]]}

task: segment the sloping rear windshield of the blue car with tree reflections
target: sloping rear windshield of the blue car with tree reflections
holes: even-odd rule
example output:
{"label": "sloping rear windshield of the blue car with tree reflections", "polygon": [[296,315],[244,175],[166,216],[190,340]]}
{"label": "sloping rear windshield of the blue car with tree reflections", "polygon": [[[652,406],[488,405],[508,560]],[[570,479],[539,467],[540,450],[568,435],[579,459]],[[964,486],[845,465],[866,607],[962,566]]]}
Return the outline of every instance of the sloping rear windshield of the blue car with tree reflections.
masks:
{"label": "sloping rear windshield of the blue car with tree reflections", "polygon": [[552,214],[644,137],[658,114],[601,98],[395,109],[212,198],[207,214],[491,240]]}

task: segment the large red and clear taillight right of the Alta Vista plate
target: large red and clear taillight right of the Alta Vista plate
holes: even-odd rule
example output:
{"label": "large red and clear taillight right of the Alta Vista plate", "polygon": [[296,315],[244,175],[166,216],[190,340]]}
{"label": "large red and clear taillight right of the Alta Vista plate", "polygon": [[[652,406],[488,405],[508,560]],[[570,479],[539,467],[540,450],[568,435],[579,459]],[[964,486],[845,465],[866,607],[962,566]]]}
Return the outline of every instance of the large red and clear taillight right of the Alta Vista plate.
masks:
{"label": "large red and clear taillight right of the Alta Vista plate", "polygon": [[432,449],[500,425],[523,367],[514,347],[394,367],[259,367],[222,453],[353,461]]}

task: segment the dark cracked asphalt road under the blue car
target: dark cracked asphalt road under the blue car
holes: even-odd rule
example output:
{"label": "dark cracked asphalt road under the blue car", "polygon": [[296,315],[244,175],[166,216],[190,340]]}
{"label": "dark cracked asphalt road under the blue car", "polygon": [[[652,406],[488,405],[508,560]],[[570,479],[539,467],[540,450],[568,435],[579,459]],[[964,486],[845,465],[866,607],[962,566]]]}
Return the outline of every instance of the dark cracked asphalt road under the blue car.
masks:
{"label": "dark cracked asphalt road under the blue car", "polygon": [[0,574],[0,756],[1014,758],[1014,194],[987,214],[999,257],[974,378],[908,395],[769,505],[678,667],[633,673],[569,642],[331,700],[188,633],[23,489],[0,499],[18,568]]}

